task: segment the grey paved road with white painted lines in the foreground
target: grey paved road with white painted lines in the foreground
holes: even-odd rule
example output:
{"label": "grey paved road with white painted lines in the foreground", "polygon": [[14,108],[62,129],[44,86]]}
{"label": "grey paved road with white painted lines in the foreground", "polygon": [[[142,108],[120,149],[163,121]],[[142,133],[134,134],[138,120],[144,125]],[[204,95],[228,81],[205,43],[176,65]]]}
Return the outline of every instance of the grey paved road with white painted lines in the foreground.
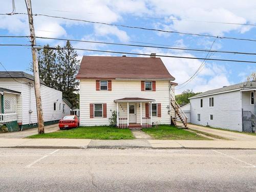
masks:
{"label": "grey paved road with white painted lines in the foreground", "polygon": [[255,150],[0,148],[0,191],[256,191]]}

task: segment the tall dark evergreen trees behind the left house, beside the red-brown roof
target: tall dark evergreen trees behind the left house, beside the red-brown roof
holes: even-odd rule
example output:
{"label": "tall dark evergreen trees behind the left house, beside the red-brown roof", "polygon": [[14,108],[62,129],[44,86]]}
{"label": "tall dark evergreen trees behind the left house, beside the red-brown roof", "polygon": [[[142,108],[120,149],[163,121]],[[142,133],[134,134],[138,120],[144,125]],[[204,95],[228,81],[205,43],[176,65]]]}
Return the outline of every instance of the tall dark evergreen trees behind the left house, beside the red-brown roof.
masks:
{"label": "tall dark evergreen trees behind the left house, beside the red-brown roof", "polygon": [[[77,60],[77,53],[72,49],[70,41],[67,41],[65,49],[60,46],[56,50],[46,48],[38,50],[38,67],[39,77],[50,88],[62,92],[65,97],[74,107],[78,107],[79,95],[78,81],[75,78],[77,73],[76,65],[79,64]],[[29,68],[33,72],[33,64]]]}

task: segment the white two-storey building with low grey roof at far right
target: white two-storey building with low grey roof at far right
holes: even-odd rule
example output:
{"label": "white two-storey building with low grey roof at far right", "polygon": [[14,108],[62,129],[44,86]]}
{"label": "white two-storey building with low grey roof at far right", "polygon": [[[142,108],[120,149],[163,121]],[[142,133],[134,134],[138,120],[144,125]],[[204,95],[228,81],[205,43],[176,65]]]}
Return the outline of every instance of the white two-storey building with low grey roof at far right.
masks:
{"label": "white two-storey building with low grey roof at far right", "polygon": [[190,122],[255,132],[256,82],[247,81],[190,97]]}

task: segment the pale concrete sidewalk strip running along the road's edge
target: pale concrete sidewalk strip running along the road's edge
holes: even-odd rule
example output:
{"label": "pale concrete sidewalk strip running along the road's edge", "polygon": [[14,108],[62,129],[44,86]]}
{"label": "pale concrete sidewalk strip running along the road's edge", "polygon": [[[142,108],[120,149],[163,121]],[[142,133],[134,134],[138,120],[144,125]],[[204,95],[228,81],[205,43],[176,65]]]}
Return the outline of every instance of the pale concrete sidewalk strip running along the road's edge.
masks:
{"label": "pale concrete sidewalk strip running along the road's edge", "polygon": [[93,140],[93,139],[0,139],[0,148],[193,148],[254,149],[254,141],[230,140]]}

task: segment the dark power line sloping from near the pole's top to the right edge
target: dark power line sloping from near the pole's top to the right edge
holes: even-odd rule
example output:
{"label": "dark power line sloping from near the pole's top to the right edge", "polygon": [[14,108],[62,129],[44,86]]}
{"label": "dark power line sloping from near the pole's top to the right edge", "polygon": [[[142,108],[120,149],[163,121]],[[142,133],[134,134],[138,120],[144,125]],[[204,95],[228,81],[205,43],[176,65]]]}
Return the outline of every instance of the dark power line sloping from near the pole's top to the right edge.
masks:
{"label": "dark power line sloping from near the pole's top to the right edge", "polygon": [[[15,13],[15,14],[27,14],[27,13]],[[68,17],[61,17],[61,16],[53,16],[53,15],[47,15],[47,14],[33,14],[33,15],[34,16],[45,16],[45,17],[51,17],[51,18],[61,18],[61,19],[73,20],[73,21],[76,21],[76,22],[86,22],[86,23],[92,23],[92,24],[102,24],[102,25],[109,25],[109,26],[116,26],[116,27],[124,27],[124,28],[130,28],[130,29],[141,29],[141,30],[148,30],[148,31],[165,32],[165,33],[178,33],[178,34],[182,34],[182,35],[195,35],[195,36],[214,37],[214,38],[221,38],[221,39],[256,41],[256,39],[248,39],[248,38],[203,35],[203,34],[198,34],[198,33],[185,33],[185,32],[178,32],[178,31],[167,31],[167,30],[162,30],[162,29],[127,26],[127,25],[120,25],[120,24],[109,24],[109,23],[104,23],[104,22],[92,22],[90,20],[75,19],[75,18],[68,18]]]}

